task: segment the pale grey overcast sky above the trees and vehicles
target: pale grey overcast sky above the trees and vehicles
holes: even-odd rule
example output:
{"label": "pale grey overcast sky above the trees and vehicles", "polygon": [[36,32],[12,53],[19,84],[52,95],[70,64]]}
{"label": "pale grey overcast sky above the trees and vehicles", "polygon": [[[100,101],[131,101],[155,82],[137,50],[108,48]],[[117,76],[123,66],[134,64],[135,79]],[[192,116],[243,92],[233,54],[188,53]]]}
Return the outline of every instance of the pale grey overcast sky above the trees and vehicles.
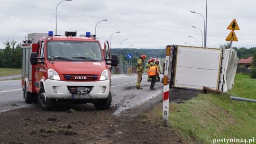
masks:
{"label": "pale grey overcast sky above the trees and vehicles", "polygon": [[[55,9],[62,0],[0,0],[0,48],[12,38],[18,43],[30,33],[55,34]],[[256,47],[256,0],[208,0],[207,47],[226,44],[227,27],[235,18],[240,30],[236,47]],[[91,32],[101,45],[112,35],[112,48],[165,48],[202,45],[206,0],[72,0],[57,8],[57,34]],[[193,28],[198,27],[198,28]],[[204,32],[203,32],[204,33]],[[192,37],[189,37],[192,36]],[[197,40],[197,44],[196,44]],[[189,43],[189,44],[185,44]]]}

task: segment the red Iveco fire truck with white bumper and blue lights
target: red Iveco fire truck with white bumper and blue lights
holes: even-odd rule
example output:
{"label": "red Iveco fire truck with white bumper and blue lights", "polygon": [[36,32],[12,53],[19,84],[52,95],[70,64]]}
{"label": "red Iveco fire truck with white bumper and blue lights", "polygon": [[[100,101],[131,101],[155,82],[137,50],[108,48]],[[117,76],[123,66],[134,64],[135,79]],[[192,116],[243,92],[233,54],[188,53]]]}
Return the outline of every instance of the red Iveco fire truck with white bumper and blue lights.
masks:
{"label": "red Iveco fire truck with white bumper and blue lights", "polygon": [[[33,43],[34,41],[34,43]],[[118,55],[110,54],[108,41],[101,48],[91,36],[48,36],[23,41],[22,89],[26,103],[50,110],[56,102],[93,103],[98,110],[110,108],[111,66]]]}

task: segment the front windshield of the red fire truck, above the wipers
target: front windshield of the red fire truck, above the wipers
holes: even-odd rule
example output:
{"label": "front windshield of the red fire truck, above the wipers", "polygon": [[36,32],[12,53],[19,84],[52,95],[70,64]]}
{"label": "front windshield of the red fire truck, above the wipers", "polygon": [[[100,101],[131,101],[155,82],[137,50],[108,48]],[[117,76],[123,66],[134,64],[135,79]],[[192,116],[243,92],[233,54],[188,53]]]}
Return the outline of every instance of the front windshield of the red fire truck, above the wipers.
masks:
{"label": "front windshield of the red fire truck, above the wipers", "polygon": [[103,61],[101,47],[97,42],[49,41],[46,49],[48,60],[53,56],[56,61]]}

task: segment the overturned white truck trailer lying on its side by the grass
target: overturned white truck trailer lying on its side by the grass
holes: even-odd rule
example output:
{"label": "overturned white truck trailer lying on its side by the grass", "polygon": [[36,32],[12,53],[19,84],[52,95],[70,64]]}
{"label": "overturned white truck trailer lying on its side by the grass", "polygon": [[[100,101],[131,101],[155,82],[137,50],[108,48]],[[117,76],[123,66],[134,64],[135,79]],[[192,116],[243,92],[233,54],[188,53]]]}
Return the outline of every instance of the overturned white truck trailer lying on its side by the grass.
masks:
{"label": "overturned white truck trailer lying on its side by the grass", "polygon": [[[170,45],[168,45],[170,46]],[[170,87],[231,90],[238,65],[237,52],[230,49],[173,45]]]}

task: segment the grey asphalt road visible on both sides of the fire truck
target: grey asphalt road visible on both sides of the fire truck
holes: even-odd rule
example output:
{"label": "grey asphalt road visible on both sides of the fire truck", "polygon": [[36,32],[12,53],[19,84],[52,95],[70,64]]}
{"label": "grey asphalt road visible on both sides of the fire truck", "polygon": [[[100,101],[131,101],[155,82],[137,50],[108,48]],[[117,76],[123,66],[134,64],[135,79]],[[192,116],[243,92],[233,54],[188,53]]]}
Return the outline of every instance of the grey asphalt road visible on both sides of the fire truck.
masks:
{"label": "grey asphalt road visible on both sides of the fire truck", "polygon": [[[20,75],[0,77],[0,80],[20,77]],[[143,75],[141,81],[142,90],[136,89],[137,75],[112,75],[111,93],[112,107],[117,110],[113,113],[119,115],[127,109],[137,108],[141,105],[150,107],[162,99],[163,84],[156,82],[156,90],[150,90],[151,82],[147,81],[147,75]],[[9,109],[26,107],[35,104],[26,104],[23,99],[21,80],[0,81],[0,112]]]}

